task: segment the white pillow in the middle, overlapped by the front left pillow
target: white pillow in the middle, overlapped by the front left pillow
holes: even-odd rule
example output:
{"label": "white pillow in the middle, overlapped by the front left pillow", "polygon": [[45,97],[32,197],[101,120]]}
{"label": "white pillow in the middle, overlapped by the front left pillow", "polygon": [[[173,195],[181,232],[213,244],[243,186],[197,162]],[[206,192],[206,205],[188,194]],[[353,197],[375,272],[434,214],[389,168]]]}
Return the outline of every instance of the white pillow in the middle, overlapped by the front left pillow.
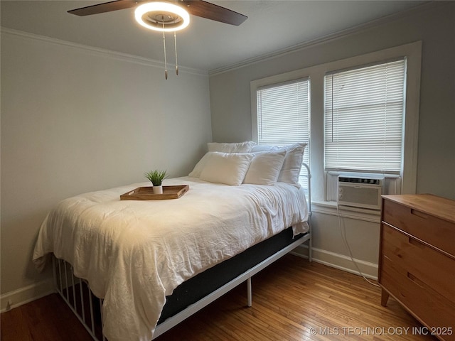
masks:
{"label": "white pillow in the middle, overlapped by the front left pillow", "polygon": [[286,151],[264,151],[255,153],[243,183],[274,185],[282,170]]}

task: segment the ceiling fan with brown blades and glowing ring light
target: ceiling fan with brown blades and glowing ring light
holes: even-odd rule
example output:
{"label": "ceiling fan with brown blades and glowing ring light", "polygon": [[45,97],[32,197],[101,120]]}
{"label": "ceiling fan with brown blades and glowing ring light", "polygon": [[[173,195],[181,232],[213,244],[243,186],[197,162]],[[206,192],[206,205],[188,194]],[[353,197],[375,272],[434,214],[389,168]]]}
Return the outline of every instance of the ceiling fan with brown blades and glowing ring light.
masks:
{"label": "ceiling fan with brown blades and glowing ring light", "polygon": [[168,70],[165,32],[173,32],[176,53],[176,74],[178,75],[176,31],[188,26],[190,22],[189,14],[235,26],[239,26],[248,18],[243,14],[203,0],[115,0],[80,9],[72,9],[68,13],[75,14],[76,16],[90,16],[92,14],[118,11],[120,9],[131,9],[136,6],[137,9],[135,10],[134,16],[141,26],[163,32],[164,76],[166,80],[168,79]]}

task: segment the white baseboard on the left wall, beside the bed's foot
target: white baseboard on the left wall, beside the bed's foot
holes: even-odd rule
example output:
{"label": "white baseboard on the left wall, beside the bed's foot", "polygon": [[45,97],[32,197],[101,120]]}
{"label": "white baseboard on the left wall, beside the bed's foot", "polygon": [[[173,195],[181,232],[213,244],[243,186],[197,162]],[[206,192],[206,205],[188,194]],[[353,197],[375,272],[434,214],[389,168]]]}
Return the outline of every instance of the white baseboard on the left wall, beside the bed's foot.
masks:
{"label": "white baseboard on the left wall, beside the bed's foot", "polygon": [[0,296],[0,313],[55,293],[53,278],[25,286]]}

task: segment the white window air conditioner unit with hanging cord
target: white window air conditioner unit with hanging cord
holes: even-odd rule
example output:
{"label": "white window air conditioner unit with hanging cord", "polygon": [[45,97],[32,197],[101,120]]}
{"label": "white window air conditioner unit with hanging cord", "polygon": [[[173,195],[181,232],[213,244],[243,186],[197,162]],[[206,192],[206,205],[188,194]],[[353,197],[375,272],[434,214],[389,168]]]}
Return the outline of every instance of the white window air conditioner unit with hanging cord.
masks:
{"label": "white window air conditioner unit with hanging cord", "polygon": [[381,209],[384,178],[338,176],[338,205]]}

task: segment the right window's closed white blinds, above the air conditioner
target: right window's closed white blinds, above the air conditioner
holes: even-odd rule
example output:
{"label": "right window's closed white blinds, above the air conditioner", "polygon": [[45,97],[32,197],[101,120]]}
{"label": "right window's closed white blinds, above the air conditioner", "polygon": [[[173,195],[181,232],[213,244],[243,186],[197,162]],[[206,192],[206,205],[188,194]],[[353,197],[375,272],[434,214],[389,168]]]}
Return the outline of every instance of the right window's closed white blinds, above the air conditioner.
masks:
{"label": "right window's closed white blinds, above the air conditioner", "polygon": [[326,171],[400,173],[406,60],[326,74]]}

